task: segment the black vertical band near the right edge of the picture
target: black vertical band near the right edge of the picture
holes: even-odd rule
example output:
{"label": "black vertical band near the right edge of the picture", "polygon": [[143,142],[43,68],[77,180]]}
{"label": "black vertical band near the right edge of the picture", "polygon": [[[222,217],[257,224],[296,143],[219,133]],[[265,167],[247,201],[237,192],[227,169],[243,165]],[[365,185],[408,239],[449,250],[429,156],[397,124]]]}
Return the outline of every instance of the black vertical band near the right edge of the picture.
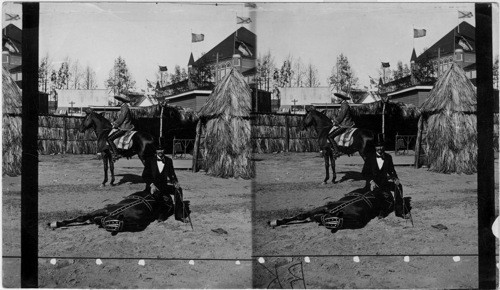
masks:
{"label": "black vertical band near the right edge of the picture", "polygon": [[493,49],[490,3],[476,4],[477,207],[479,289],[495,289],[495,168],[493,152]]}

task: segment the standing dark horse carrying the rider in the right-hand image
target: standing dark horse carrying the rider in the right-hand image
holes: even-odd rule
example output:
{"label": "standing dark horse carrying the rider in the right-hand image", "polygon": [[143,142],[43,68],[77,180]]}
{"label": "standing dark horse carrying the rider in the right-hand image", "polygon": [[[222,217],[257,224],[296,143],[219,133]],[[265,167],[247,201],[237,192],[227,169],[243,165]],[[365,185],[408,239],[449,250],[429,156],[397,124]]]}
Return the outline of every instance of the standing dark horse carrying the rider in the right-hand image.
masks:
{"label": "standing dark horse carrying the rider in the right-hand image", "polygon": [[[314,108],[308,107],[306,108],[306,115],[302,121],[302,129],[305,130],[310,126],[314,126],[314,129],[316,130],[319,148],[323,152],[323,157],[325,159],[326,176],[323,180],[323,184],[326,184],[330,178],[328,168],[330,162],[332,164],[332,183],[336,183],[335,179],[337,178],[337,174],[335,172],[335,158],[333,157],[332,145],[328,141],[328,132],[330,132],[333,123],[325,114]],[[356,129],[356,131],[352,134],[352,139],[352,144],[349,147],[339,146],[342,151],[341,153],[352,154],[354,152],[359,152],[361,158],[365,160],[368,153],[375,152],[372,131],[366,129]]]}

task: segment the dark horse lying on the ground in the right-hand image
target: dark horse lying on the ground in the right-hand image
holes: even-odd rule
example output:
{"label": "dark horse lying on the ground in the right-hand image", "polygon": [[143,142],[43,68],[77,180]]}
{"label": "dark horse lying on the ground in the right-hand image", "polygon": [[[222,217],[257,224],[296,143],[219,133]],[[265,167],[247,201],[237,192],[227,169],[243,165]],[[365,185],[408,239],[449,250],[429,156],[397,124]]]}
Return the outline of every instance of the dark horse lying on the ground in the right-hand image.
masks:
{"label": "dark horse lying on the ground in the right-hand image", "polygon": [[[411,197],[404,197],[402,218],[411,218]],[[375,217],[385,218],[394,211],[394,198],[390,193],[380,190],[354,190],[338,201],[329,202],[324,206],[279,220],[268,221],[272,226],[289,223],[317,222],[320,226],[330,229],[332,233],[340,229],[363,228]]]}

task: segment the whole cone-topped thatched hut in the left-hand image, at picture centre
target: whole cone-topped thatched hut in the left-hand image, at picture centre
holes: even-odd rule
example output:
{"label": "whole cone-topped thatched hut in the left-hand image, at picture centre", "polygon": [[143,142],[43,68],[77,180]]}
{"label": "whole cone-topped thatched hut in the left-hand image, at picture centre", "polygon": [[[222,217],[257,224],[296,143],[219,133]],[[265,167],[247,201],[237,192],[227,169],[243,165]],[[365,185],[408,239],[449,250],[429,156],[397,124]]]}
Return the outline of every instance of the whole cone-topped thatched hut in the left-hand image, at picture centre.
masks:
{"label": "whole cone-topped thatched hut in the left-hand image, at picture centre", "polygon": [[203,169],[218,177],[255,176],[251,148],[251,91],[232,69],[215,87],[199,117],[204,124]]}

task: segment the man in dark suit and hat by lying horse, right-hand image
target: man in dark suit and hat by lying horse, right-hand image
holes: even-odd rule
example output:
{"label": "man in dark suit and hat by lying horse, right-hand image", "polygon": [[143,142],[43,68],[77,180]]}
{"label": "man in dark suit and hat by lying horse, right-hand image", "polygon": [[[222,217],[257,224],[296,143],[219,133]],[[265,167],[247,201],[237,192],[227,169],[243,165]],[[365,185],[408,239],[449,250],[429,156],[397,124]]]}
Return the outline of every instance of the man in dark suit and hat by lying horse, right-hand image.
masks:
{"label": "man in dark suit and hat by lying horse, right-hand image", "polygon": [[[362,171],[366,179],[366,187],[370,191],[382,191],[386,201],[390,204],[387,207],[388,210],[381,213],[381,217],[386,217],[394,209],[396,216],[406,218],[403,209],[403,186],[394,169],[392,156],[385,152],[383,136],[379,134],[375,139],[375,154],[367,156]],[[395,204],[392,191],[394,191]]]}

